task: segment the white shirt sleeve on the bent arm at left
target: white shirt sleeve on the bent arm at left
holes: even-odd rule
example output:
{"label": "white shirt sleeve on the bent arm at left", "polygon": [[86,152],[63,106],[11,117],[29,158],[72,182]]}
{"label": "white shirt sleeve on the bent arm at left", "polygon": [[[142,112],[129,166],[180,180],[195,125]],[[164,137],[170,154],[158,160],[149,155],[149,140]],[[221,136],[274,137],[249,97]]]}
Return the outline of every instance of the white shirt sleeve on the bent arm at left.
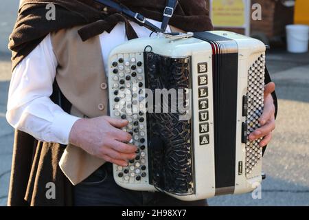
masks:
{"label": "white shirt sleeve on the bent arm at left", "polygon": [[57,61],[50,35],[17,65],[8,94],[6,118],[15,128],[45,142],[69,143],[71,127],[79,118],[50,100]]}

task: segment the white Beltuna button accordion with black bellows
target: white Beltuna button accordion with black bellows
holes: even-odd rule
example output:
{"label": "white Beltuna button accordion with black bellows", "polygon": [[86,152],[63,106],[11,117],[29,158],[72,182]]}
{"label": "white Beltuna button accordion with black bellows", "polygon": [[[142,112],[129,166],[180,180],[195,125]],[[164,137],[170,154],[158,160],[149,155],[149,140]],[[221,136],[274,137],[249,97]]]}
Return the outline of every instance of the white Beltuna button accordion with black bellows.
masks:
{"label": "white Beltuna button accordion with black bellows", "polygon": [[214,31],[134,39],[108,58],[110,115],[137,157],[115,182],[184,201],[251,192],[262,181],[264,43]]}

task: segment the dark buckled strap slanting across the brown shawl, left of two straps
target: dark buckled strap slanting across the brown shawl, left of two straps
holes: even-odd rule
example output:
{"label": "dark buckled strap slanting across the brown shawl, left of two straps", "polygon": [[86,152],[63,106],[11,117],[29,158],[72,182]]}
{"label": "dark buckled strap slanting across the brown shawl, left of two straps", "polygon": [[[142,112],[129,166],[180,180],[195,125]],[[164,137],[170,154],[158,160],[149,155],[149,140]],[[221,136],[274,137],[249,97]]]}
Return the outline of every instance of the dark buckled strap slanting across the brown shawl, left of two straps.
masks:
{"label": "dark buckled strap slanting across the brown shawl, left of two straps", "polygon": [[147,21],[143,15],[131,11],[125,5],[121,5],[111,0],[94,0],[94,1],[97,1],[98,3],[102,3],[103,5],[106,5],[110,8],[113,8],[119,11],[120,13],[124,14],[126,17],[129,17],[133,21],[137,21],[139,25],[145,26],[146,28],[152,30],[153,32],[164,32],[164,30],[161,30],[156,25],[153,25],[152,23]]}

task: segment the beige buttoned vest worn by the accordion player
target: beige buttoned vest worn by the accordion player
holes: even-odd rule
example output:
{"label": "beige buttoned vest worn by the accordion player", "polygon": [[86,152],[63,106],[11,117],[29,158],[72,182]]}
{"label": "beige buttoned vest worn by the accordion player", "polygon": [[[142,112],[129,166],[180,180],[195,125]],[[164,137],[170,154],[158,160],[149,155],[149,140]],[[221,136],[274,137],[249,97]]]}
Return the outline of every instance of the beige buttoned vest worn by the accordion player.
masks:
{"label": "beige buttoned vest worn by the accordion player", "polygon": [[[56,79],[60,90],[72,104],[71,115],[95,118],[107,113],[107,78],[99,36],[82,42],[78,35],[80,28],[52,33],[52,45],[58,61]],[[171,29],[181,32],[173,27]],[[69,144],[59,165],[71,183],[76,185],[104,163],[103,159]]]}

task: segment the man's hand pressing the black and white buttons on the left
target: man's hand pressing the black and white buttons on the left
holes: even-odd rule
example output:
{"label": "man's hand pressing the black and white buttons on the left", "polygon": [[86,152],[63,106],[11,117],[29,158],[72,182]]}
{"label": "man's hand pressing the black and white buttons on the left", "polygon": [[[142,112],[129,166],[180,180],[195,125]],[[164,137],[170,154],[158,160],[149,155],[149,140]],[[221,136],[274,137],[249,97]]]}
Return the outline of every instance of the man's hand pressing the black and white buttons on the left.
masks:
{"label": "man's hand pressing the black and white buttons on the left", "polygon": [[128,166],[127,161],[136,157],[137,147],[123,143],[132,140],[129,133],[120,130],[127,124],[127,120],[108,116],[82,118],[73,124],[69,142],[106,162]]}

